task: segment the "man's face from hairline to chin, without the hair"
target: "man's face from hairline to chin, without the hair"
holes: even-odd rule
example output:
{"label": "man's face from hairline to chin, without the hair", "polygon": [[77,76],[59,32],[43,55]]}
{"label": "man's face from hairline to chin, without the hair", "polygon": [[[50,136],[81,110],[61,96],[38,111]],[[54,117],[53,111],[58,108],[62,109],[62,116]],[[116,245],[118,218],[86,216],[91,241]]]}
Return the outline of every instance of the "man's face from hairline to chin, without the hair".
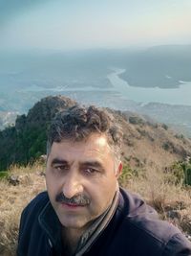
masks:
{"label": "man's face from hairline to chin, without the hair", "polygon": [[93,134],[81,142],[53,143],[46,183],[62,225],[85,228],[101,215],[116,193],[119,169],[104,135]]}

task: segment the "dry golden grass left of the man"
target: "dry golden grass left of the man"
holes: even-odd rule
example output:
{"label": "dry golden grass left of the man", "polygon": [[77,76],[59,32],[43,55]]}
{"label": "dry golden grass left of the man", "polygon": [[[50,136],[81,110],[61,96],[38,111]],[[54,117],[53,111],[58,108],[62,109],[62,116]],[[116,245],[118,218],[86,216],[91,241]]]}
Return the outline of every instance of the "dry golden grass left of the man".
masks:
{"label": "dry golden grass left of the man", "polygon": [[26,168],[12,167],[11,175],[19,175],[20,183],[12,186],[0,181],[0,255],[13,256],[18,237],[22,209],[40,191],[45,190],[44,167],[38,163]]}

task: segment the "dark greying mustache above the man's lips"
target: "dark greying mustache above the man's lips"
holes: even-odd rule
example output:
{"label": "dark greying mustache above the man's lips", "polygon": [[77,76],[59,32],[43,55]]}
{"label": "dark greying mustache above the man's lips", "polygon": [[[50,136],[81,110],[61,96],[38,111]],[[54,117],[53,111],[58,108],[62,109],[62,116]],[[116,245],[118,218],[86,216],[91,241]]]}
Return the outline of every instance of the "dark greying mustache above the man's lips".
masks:
{"label": "dark greying mustache above the man's lips", "polygon": [[77,195],[74,196],[73,198],[66,198],[63,193],[60,193],[55,197],[55,200],[57,202],[77,204],[80,206],[90,204],[90,199],[87,198],[85,195]]}

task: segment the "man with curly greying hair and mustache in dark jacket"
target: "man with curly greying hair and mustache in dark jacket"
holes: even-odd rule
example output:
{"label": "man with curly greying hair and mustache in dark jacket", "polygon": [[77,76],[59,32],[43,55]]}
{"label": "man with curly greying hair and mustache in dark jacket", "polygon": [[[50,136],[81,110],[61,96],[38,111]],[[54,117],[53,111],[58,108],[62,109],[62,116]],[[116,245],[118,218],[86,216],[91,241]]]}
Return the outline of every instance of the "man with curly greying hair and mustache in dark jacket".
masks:
{"label": "man with curly greying hair and mustache in dark jacket", "polygon": [[122,132],[95,106],[53,120],[47,192],[25,208],[18,256],[185,256],[191,244],[154,209],[118,187]]}

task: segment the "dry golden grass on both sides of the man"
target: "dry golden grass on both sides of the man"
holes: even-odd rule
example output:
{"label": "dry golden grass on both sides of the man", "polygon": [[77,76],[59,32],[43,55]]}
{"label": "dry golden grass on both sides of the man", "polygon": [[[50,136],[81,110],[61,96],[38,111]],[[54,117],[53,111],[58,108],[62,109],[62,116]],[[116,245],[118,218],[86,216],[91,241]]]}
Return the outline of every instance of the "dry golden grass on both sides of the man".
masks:
{"label": "dry golden grass on both sides of the man", "polygon": [[[11,175],[19,175],[17,186],[0,180],[0,255],[13,256],[18,237],[18,224],[22,209],[39,192],[45,190],[45,167],[35,163],[26,168],[12,167]],[[163,174],[159,168],[150,168],[141,175],[121,178],[128,190],[139,194],[153,205],[162,219],[178,225],[191,236],[191,189],[175,185],[173,177]]]}

